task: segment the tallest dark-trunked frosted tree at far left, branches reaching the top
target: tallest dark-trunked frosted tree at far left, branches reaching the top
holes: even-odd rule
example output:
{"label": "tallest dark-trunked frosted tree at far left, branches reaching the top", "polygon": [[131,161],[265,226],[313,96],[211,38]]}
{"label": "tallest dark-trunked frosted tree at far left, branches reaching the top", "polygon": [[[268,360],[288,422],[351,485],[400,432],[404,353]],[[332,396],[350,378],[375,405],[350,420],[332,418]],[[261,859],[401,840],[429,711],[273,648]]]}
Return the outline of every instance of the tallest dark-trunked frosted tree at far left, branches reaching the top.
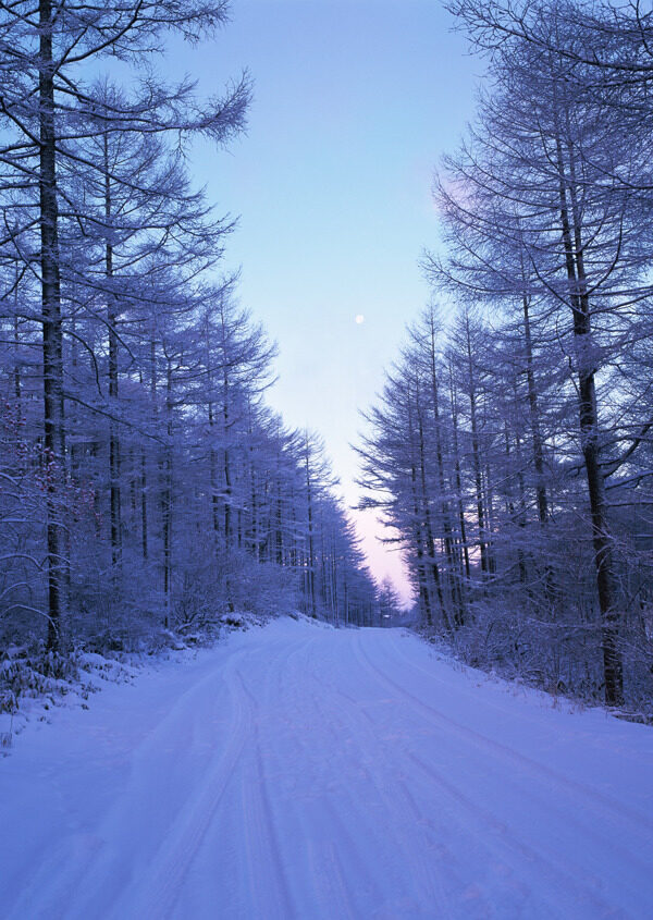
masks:
{"label": "tallest dark-trunked frosted tree at far left, branches reaching the top", "polygon": [[[1,188],[11,222],[0,241],[37,275],[44,382],[44,446],[51,457],[48,481],[49,643],[59,642],[65,593],[64,527],[60,496],[67,478],[65,444],[65,315],[62,284],[66,260],[62,222],[74,218],[63,176],[66,165],[93,169],[79,142],[97,126],[98,103],[86,74],[110,56],[140,68],[165,32],[193,39],[223,24],[226,4],[17,2],[0,10],[0,113],[3,130]],[[97,64],[96,64],[97,62]],[[152,75],[139,78],[133,100],[100,100],[108,136],[128,123],[143,134],[199,131],[222,143],[243,124],[247,86],[224,99],[200,101],[190,84],[169,87]],[[99,158],[100,169],[108,162]],[[110,259],[107,270],[110,273]],[[35,316],[36,319],[36,316]]]}

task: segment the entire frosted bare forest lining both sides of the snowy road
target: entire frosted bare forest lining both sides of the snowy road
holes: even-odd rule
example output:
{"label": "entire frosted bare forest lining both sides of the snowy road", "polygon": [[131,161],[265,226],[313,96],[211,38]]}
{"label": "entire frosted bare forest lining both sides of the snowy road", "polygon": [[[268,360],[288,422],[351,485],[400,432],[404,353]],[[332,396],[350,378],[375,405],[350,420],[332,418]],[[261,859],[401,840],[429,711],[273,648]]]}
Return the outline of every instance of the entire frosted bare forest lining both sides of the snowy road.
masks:
{"label": "entire frosted bare forest lining both sides of the snowy road", "polygon": [[[428,306],[364,413],[361,508],[466,662],[653,698],[653,22],[452,0],[485,68],[438,169]],[[192,174],[251,81],[156,69],[224,0],[0,9],[0,648],[57,673],[242,611],[373,625],[324,445],[266,402],[275,345]],[[153,63],[152,63],[153,62]],[[9,662],[9,663],[8,663]],[[12,706],[11,694],[7,706]]]}

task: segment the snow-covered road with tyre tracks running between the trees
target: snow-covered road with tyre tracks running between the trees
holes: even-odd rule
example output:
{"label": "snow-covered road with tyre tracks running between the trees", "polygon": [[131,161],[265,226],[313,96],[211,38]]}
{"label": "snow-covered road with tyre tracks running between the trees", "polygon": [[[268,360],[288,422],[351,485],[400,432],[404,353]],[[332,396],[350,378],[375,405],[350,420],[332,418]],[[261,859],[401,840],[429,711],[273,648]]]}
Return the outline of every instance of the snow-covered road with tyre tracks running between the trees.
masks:
{"label": "snow-covered road with tyre tracks running between the trees", "polygon": [[7,918],[653,916],[653,729],[289,618],[29,725]]}

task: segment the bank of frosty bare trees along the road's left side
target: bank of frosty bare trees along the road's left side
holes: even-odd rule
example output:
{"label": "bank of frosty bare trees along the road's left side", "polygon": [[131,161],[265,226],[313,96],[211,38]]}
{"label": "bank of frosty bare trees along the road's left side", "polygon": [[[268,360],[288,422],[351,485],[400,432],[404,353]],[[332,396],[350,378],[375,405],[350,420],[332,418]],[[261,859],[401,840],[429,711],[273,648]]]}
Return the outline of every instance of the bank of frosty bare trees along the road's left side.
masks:
{"label": "bank of frosty bare trees along the road's left side", "polygon": [[[188,174],[245,125],[155,70],[224,0],[0,5],[0,641],[134,645],[234,610],[371,621],[319,439],[264,402],[274,347]],[[118,73],[122,79],[110,78]]]}

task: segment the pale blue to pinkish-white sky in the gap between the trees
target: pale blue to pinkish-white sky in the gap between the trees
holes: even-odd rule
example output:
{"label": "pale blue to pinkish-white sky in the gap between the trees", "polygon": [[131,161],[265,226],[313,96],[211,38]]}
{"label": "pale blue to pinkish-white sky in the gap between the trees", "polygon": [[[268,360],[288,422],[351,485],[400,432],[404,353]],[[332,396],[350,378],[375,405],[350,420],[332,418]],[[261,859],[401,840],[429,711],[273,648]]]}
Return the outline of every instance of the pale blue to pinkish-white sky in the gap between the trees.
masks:
{"label": "pale blue to pinkish-white sky in the gap between the trees", "polygon": [[[193,168],[241,216],[227,263],[279,343],[269,400],[324,437],[349,503],[358,409],[429,295],[418,260],[438,240],[433,169],[473,111],[479,63],[451,26],[436,0],[233,0],[215,42],[175,46],[167,62],[205,93],[244,68],[254,78],[247,135],[229,152],[197,145]],[[401,584],[366,518],[374,574]]]}

